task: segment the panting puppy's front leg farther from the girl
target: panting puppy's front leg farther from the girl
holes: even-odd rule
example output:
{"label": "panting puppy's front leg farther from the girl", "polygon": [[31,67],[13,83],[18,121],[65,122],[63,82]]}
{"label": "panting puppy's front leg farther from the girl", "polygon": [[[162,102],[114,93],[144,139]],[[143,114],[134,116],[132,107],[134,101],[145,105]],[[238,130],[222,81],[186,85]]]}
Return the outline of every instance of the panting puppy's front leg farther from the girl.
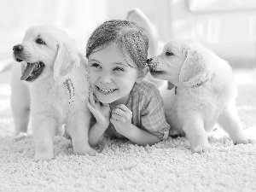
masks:
{"label": "panting puppy's front leg farther from the girl", "polygon": [[32,116],[32,132],[36,144],[34,161],[52,160],[55,127],[56,121],[52,117]]}

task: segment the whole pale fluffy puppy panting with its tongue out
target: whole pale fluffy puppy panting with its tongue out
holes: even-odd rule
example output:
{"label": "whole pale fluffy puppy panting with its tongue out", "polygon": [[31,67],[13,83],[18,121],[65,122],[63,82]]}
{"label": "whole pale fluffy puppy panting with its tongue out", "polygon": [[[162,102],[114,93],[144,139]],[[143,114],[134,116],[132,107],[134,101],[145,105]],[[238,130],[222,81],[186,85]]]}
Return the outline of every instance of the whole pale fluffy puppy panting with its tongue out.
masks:
{"label": "whole pale fluffy puppy panting with its tongue out", "polygon": [[73,40],[55,26],[34,26],[13,50],[21,63],[11,79],[15,134],[26,133],[31,115],[34,160],[53,158],[53,137],[61,125],[67,125],[75,154],[95,154],[88,143],[91,114],[85,104],[89,74]]}

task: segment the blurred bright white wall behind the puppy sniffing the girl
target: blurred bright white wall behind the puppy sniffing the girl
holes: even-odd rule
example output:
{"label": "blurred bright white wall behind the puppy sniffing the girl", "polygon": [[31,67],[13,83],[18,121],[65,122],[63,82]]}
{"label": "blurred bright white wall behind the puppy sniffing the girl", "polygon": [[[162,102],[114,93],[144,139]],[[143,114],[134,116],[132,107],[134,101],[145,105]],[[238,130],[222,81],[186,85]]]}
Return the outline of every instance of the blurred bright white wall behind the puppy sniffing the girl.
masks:
{"label": "blurred bright white wall behind the puppy sniffing the girl", "polygon": [[256,3],[248,3],[253,1],[108,0],[107,15],[125,19],[129,10],[142,9],[163,41],[194,38],[234,65],[256,66]]}

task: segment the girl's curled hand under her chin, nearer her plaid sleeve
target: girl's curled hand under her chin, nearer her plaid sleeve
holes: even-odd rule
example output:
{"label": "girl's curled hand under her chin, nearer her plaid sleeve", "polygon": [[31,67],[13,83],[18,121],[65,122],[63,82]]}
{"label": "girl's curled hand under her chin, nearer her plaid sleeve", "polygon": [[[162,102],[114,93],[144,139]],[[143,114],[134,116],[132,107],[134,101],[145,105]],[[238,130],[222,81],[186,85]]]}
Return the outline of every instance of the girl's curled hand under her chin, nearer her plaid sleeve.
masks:
{"label": "girl's curled hand under her chin, nearer her plaid sleeve", "polygon": [[113,124],[115,130],[126,136],[130,129],[131,125],[132,112],[124,104],[117,105],[112,110],[112,117],[110,122]]}

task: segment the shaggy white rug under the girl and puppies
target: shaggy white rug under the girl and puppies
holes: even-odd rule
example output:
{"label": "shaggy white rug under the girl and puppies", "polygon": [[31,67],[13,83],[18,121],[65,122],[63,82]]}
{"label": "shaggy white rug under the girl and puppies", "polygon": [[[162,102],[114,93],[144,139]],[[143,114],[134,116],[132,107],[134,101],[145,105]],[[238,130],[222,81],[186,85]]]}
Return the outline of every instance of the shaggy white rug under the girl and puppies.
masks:
{"label": "shaggy white rug under the girl and puppies", "polygon": [[[236,77],[241,122],[256,139],[256,71]],[[9,83],[0,84],[0,191],[256,191],[256,145],[235,146],[220,129],[207,154],[191,154],[183,137],[152,147],[104,138],[96,156],[78,156],[58,136],[55,159],[35,163],[32,137],[12,138],[9,96]]]}

